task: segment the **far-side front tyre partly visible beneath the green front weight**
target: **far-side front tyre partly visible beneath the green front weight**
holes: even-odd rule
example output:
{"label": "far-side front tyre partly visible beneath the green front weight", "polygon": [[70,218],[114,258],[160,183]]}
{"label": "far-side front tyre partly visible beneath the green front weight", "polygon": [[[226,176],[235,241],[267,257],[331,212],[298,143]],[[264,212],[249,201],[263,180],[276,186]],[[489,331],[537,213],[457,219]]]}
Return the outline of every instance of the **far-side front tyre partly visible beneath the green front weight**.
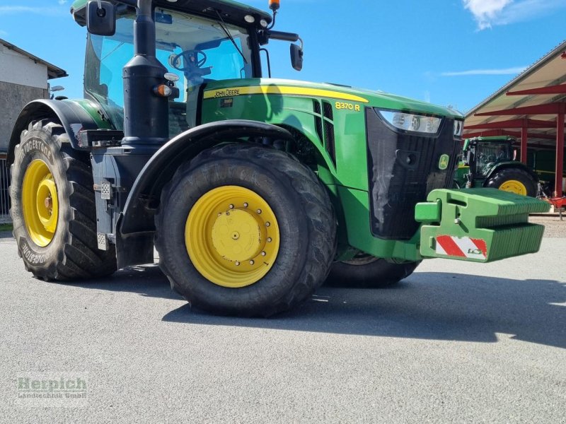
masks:
{"label": "far-side front tyre partly visible beneath the green front weight", "polygon": [[384,288],[410,276],[420,264],[392,264],[385,259],[359,254],[350,261],[335,262],[325,284],[333,287]]}

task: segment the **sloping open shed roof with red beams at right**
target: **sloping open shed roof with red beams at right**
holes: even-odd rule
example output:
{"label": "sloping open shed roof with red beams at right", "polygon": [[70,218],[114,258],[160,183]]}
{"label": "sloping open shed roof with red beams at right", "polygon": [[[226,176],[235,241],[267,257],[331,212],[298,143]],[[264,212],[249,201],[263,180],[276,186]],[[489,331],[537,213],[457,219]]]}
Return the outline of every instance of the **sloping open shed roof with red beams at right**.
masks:
{"label": "sloping open shed roof with red beams at right", "polygon": [[[566,40],[467,112],[464,137],[470,134],[480,135],[480,133],[495,135],[495,129],[501,129],[504,134],[516,135],[517,131],[521,131],[521,126],[518,126],[519,120],[529,119],[527,125],[529,142],[536,140],[538,143],[554,145],[557,115],[555,112],[550,112],[553,110],[550,105],[566,101],[566,84],[558,90],[561,93],[557,93],[556,88],[550,89],[554,93],[549,94],[508,95],[507,93],[562,86],[565,82]],[[532,108],[541,105],[547,105],[545,108],[548,109],[548,113],[545,113],[541,107],[538,108],[538,111]],[[530,107],[530,109],[521,109],[525,107]],[[488,114],[497,111],[502,113]],[[505,126],[506,124],[498,126],[497,122],[508,122],[509,126]],[[548,123],[546,127],[544,122]]]}

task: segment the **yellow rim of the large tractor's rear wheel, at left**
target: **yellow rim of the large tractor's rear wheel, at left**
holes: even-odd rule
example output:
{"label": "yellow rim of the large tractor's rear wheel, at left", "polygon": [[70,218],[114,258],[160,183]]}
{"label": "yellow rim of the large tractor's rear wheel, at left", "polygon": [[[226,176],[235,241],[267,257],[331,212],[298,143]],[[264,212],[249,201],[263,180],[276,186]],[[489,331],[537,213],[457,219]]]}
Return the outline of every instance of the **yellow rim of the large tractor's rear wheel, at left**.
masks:
{"label": "yellow rim of the large tractor's rear wheel, at left", "polygon": [[57,186],[47,163],[40,159],[30,163],[23,176],[22,192],[25,228],[37,246],[45,247],[53,240],[59,217]]}

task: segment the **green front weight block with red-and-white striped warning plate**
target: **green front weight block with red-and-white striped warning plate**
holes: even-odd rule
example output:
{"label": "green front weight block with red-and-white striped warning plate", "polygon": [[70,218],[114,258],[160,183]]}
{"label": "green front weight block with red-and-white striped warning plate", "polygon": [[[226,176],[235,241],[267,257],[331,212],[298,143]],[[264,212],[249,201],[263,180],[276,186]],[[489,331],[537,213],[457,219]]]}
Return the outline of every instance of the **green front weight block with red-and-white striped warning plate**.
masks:
{"label": "green front weight block with red-and-white striped warning plate", "polygon": [[422,257],[491,262],[538,252],[544,226],[529,213],[550,205],[497,189],[437,189],[417,204]]}

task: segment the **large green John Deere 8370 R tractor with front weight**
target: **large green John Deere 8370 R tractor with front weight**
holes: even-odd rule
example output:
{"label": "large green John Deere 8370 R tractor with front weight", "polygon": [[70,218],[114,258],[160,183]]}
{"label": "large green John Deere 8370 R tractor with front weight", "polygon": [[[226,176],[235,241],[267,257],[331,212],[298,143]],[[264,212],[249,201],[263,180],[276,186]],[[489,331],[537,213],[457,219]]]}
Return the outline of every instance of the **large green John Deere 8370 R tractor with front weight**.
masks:
{"label": "large green John Deere 8370 R tractor with front weight", "polygon": [[[229,0],[76,0],[85,98],[37,100],[9,147],[13,235],[47,281],[154,262],[192,305],[269,316],[327,277],[395,283],[424,258],[536,252],[548,205],[451,190],[463,117],[269,76],[299,35]],[[296,44],[298,43],[298,44]],[[266,73],[267,68],[267,73]]]}

